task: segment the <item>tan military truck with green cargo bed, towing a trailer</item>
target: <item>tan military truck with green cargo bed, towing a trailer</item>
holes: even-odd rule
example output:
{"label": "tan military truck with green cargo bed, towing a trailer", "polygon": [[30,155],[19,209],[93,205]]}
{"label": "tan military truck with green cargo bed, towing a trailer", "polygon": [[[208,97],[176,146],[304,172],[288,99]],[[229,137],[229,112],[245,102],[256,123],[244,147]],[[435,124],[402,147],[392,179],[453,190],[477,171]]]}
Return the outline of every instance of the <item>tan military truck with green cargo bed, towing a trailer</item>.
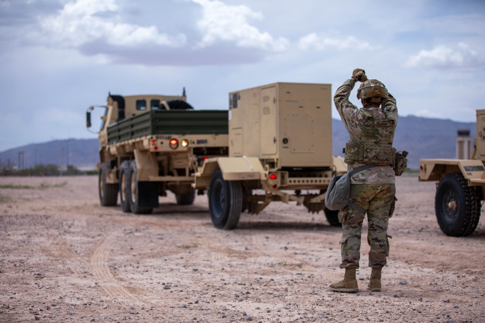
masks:
{"label": "tan military truck with green cargo bed, towing a trailer", "polygon": [[[99,131],[98,188],[103,206],[149,214],[172,191],[192,204],[204,158],[228,154],[227,111],[197,111],[181,96],[109,95]],[[90,107],[87,126],[91,125]]]}

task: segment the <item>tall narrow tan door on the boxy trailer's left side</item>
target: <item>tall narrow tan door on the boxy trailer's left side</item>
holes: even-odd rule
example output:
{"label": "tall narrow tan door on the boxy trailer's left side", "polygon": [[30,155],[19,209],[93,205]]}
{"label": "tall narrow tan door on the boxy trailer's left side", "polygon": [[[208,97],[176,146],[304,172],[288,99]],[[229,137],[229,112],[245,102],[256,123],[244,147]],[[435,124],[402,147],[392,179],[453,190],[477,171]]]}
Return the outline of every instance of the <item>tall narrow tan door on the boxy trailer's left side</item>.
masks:
{"label": "tall narrow tan door on the boxy trailer's left side", "polygon": [[261,90],[260,95],[261,154],[276,154],[276,87]]}

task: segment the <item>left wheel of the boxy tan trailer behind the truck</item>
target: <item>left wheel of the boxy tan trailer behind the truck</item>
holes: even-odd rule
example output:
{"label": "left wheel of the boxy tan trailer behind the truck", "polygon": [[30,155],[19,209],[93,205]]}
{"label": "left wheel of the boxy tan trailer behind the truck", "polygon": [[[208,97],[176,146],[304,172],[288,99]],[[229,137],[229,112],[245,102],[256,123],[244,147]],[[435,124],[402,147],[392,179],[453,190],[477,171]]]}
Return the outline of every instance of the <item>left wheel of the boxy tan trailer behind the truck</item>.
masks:
{"label": "left wheel of the boxy tan trailer behind the truck", "polygon": [[209,183],[209,212],[214,227],[224,230],[236,228],[242,210],[240,181],[225,181],[221,169],[212,173]]}

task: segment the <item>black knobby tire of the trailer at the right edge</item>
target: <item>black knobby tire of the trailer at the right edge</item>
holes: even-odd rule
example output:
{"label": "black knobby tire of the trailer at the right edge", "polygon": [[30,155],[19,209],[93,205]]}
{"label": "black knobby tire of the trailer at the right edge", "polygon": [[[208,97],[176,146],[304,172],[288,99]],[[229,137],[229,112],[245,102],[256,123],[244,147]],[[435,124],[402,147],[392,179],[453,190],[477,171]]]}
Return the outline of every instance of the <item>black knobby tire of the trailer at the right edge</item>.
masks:
{"label": "black knobby tire of the trailer at the right edge", "polygon": [[446,174],[436,189],[435,210],[439,227],[446,235],[466,237],[480,220],[481,191],[468,186],[462,173]]}

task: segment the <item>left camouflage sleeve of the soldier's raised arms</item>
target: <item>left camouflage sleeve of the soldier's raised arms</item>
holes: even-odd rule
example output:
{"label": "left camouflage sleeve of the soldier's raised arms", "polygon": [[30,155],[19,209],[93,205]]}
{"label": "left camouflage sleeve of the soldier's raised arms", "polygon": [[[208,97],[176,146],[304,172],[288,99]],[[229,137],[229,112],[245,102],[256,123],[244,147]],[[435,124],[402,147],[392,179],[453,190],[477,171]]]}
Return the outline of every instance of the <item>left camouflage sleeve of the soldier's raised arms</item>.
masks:
{"label": "left camouflage sleeve of the soldier's raised arms", "polygon": [[355,79],[350,78],[343,82],[334,95],[335,107],[339,111],[340,119],[342,119],[349,133],[352,130],[352,125],[362,120],[362,112],[349,101],[350,92],[352,92],[355,85]]}

